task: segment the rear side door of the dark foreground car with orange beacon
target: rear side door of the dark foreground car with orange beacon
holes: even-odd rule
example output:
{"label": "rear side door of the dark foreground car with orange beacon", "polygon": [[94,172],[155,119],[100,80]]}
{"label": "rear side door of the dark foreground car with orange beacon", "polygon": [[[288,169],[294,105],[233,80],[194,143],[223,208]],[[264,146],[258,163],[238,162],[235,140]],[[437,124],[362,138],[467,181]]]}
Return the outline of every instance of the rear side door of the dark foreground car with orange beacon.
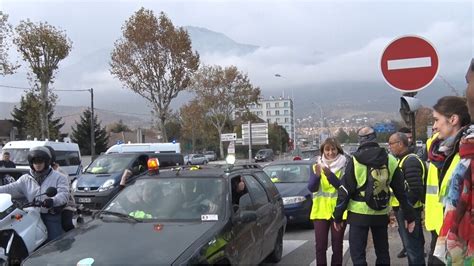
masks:
{"label": "rear side door of the dark foreground car with orange beacon", "polygon": [[267,193],[263,186],[255,179],[254,176],[247,174],[244,175],[245,185],[249,191],[252,201],[255,205],[257,212],[257,227],[261,237],[257,241],[258,252],[256,255],[256,261],[252,263],[260,263],[264,259],[264,256],[268,254],[265,250],[268,250],[268,245],[273,246],[274,243],[266,243],[269,236],[265,236],[265,231],[270,227],[274,217],[272,215],[272,204],[268,200]]}

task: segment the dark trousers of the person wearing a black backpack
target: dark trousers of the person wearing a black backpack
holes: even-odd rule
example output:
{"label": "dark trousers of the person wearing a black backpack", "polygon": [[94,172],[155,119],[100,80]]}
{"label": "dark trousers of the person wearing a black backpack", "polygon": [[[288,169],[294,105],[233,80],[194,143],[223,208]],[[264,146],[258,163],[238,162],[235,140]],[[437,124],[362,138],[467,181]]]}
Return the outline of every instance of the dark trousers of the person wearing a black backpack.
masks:
{"label": "dark trousers of the person wearing a black backpack", "polygon": [[367,248],[367,238],[369,229],[372,232],[374,241],[376,265],[390,264],[390,253],[388,252],[388,228],[384,226],[358,226],[352,225],[349,228],[349,250],[351,260],[354,265],[367,265],[365,249]]}

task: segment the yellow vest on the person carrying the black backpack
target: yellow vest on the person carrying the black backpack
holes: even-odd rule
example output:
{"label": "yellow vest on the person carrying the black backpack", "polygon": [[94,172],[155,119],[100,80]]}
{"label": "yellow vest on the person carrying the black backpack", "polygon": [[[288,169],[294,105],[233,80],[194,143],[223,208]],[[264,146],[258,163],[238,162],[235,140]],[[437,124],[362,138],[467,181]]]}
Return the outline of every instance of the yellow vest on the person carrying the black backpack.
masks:
{"label": "yellow vest on the person carrying the black backpack", "polygon": [[[354,174],[357,181],[357,189],[359,189],[367,181],[367,166],[359,163],[355,157],[353,157],[353,161],[354,161]],[[398,167],[397,159],[395,159],[393,155],[389,154],[388,155],[388,172],[389,172],[388,183],[389,184],[392,182],[392,177],[397,167]],[[364,192],[365,191],[362,191],[362,193]],[[387,206],[387,208],[383,210],[374,210],[370,208],[367,205],[367,203],[365,203],[365,201],[356,201],[356,200],[350,199],[349,205],[347,206],[347,210],[353,213],[365,214],[365,215],[384,215],[384,214],[389,213],[390,206]]]}

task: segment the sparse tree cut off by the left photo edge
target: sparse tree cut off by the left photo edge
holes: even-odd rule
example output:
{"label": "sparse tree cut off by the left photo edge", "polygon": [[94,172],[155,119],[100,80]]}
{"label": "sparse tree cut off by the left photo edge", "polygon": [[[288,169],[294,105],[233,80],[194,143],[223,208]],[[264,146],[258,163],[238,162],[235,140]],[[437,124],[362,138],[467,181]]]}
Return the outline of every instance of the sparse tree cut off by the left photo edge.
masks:
{"label": "sparse tree cut off by the left photo edge", "polygon": [[12,35],[12,26],[8,24],[8,15],[0,11],[0,75],[13,74],[18,65],[8,60],[8,40]]}

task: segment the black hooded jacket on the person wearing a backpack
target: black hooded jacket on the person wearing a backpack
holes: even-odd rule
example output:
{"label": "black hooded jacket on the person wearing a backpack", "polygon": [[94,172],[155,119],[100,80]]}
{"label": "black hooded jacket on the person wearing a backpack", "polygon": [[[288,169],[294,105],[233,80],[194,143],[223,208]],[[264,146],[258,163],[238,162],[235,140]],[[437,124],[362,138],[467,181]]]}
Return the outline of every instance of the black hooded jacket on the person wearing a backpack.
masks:
{"label": "black hooded jacket on the person wearing a backpack", "polygon": [[[380,167],[388,163],[387,151],[374,142],[360,145],[353,156],[358,162],[369,167]],[[336,222],[342,221],[342,215],[347,209],[349,200],[357,194],[357,181],[352,160],[349,160],[341,181],[342,184],[338,190],[337,204],[334,210],[334,220]],[[404,210],[405,219],[412,222],[414,220],[414,210],[408,203],[403,175],[398,167],[393,174],[390,187]],[[386,226],[389,223],[389,218],[388,215],[364,215],[348,212],[347,222],[359,226]]]}

